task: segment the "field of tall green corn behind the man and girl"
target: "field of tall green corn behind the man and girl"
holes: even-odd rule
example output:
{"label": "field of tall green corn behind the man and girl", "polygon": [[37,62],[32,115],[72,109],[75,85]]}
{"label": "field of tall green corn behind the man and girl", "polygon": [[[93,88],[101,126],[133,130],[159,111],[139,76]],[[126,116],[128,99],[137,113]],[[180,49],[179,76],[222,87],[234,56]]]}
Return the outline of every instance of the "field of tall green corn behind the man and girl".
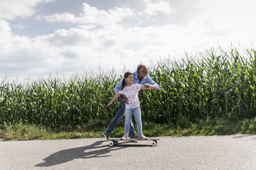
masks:
{"label": "field of tall green corn behind the man and girl", "polygon": [[[256,52],[236,49],[199,60],[158,62],[150,77],[164,89],[140,90],[143,122],[180,124],[207,118],[230,121],[256,117]],[[106,108],[122,75],[96,74],[36,81],[29,85],[1,82],[0,125],[38,124],[72,129],[92,120],[111,121],[118,103]]]}

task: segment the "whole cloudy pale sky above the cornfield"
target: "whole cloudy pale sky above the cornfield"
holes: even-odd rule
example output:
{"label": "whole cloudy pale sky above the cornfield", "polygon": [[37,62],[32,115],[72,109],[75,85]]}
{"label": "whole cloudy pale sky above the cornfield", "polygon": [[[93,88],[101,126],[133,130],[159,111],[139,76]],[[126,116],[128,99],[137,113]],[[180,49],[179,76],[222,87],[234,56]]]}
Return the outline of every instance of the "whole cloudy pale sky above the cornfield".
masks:
{"label": "whole cloudy pale sky above the cornfield", "polygon": [[0,80],[72,76],[255,46],[253,0],[0,0]]}

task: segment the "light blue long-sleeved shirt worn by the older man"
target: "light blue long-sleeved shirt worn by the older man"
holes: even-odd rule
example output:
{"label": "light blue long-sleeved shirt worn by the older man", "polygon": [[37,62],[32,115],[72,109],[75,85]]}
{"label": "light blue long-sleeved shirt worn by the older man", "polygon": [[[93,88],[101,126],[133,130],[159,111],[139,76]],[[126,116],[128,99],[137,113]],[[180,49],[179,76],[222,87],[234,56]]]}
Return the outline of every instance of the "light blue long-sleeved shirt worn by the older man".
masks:
{"label": "light blue long-sleeved shirt worn by the older man", "polygon": [[[137,83],[140,85],[150,84],[150,85],[159,87],[159,85],[154,80],[152,80],[150,78],[150,76],[148,76],[148,75],[145,78],[142,78],[141,80],[139,80],[137,71],[134,71],[133,78],[134,78],[134,80],[132,83]],[[119,92],[123,80],[124,80],[124,77],[117,83],[117,85],[115,87],[115,94],[117,94]]]}

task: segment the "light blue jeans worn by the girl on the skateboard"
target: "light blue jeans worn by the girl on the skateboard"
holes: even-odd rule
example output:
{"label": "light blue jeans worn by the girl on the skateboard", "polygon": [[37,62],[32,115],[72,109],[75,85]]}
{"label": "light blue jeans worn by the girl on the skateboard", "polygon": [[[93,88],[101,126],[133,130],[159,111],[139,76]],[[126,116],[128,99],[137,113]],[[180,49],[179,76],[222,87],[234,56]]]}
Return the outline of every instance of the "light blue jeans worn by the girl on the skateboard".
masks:
{"label": "light blue jeans worn by the girl on the skateboard", "polygon": [[130,130],[130,124],[132,120],[132,112],[137,124],[138,134],[142,135],[142,124],[141,124],[141,111],[140,106],[137,108],[125,108],[125,125],[124,125],[124,134],[128,136]]}

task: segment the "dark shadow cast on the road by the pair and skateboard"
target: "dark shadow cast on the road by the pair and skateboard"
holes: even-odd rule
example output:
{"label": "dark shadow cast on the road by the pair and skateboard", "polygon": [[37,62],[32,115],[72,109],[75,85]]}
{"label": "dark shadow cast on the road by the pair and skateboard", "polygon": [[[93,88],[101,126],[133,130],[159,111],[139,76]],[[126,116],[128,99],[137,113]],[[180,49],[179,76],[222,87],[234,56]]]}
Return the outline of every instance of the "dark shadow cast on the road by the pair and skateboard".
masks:
{"label": "dark shadow cast on the road by the pair and skateboard", "polygon": [[[63,164],[65,162],[74,160],[74,159],[88,159],[94,157],[111,157],[111,155],[104,155],[114,150],[120,150],[127,145],[118,145],[118,147],[108,147],[107,145],[102,145],[106,141],[96,141],[92,145],[82,146],[78,148],[71,148],[67,150],[61,150],[56,153],[52,153],[49,157],[44,159],[45,162],[35,165],[36,167],[49,167],[55,166],[57,164]],[[130,145],[131,146],[131,145]],[[135,145],[136,146],[136,145]],[[141,145],[143,146],[143,145]],[[144,145],[145,146],[145,145]],[[102,148],[102,149],[100,149]],[[92,150],[100,149],[100,150]],[[88,150],[92,150],[88,152]]]}

